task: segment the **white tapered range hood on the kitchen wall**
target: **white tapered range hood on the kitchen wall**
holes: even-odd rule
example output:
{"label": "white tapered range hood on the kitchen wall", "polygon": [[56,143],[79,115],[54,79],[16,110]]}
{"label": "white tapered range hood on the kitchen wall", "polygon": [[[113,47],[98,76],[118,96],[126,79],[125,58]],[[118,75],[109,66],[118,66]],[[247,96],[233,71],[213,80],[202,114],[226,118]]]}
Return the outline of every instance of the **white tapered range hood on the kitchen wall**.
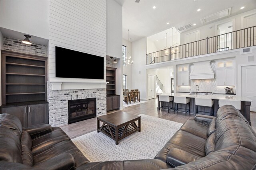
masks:
{"label": "white tapered range hood on the kitchen wall", "polygon": [[190,73],[190,80],[196,79],[213,79],[214,73],[210,65],[210,61],[193,63],[194,67]]}

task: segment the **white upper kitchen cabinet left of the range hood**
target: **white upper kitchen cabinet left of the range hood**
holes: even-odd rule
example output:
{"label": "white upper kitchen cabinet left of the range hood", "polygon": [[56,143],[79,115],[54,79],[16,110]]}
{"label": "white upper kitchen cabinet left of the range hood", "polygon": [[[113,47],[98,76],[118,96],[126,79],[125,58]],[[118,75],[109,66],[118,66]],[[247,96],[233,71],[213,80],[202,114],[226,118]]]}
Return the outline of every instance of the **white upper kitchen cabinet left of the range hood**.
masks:
{"label": "white upper kitchen cabinet left of the range hood", "polygon": [[189,86],[189,66],[178,66],[177,86]]}

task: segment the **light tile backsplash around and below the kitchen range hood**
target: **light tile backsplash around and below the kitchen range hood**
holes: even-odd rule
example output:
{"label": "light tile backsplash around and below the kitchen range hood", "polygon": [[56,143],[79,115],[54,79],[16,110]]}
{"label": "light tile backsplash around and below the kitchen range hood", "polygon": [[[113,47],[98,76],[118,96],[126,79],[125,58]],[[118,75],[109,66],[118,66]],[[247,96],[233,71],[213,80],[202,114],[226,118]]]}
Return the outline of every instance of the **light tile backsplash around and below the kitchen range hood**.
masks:
{"label": "light tile backsplash around and below the kitchen range hood", "polygon": [[[213,92],[213,93],[225,93],[225,86],[216,86],[216,62],[211,61],[210,65],[214,72],[214,79],[198,79],[198,80],[189,80],[190,86],[176,86],[176,92],[195,92],[196,85],[199,86],[199,92]],[[194,67],[193,64],[190,65],[190,72]],[[233,88],[233,92],[235,92],[235,86],[229,86]]]}

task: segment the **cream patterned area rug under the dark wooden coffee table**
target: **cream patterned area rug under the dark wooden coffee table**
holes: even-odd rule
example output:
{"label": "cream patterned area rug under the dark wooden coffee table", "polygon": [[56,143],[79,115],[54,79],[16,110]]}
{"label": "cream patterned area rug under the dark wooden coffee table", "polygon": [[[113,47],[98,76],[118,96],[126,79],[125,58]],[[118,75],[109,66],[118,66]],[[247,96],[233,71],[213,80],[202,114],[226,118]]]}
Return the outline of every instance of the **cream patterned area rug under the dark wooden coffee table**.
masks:
{"label": "cream patterned area rug under the dark wooden coffee table", "polygon": [[182,123],[144,114],[140,116],[141,132],[137,131],[122,139],[118,145],[113,139],[97,131],[76,137],[72,141],[90,162],[154,158]]}

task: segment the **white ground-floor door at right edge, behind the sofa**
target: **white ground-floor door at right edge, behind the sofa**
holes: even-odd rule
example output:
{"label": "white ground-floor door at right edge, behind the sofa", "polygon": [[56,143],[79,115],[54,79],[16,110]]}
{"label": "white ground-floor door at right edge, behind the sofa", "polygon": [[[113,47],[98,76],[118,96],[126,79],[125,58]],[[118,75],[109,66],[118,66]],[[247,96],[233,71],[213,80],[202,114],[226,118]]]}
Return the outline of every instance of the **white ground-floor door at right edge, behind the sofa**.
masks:
{"label": "white ground-floor door at right edge, behind the sofa", "polygon": [[250,110],[256,111],[256,65],[242,66],[242,96],[252,100]]}

